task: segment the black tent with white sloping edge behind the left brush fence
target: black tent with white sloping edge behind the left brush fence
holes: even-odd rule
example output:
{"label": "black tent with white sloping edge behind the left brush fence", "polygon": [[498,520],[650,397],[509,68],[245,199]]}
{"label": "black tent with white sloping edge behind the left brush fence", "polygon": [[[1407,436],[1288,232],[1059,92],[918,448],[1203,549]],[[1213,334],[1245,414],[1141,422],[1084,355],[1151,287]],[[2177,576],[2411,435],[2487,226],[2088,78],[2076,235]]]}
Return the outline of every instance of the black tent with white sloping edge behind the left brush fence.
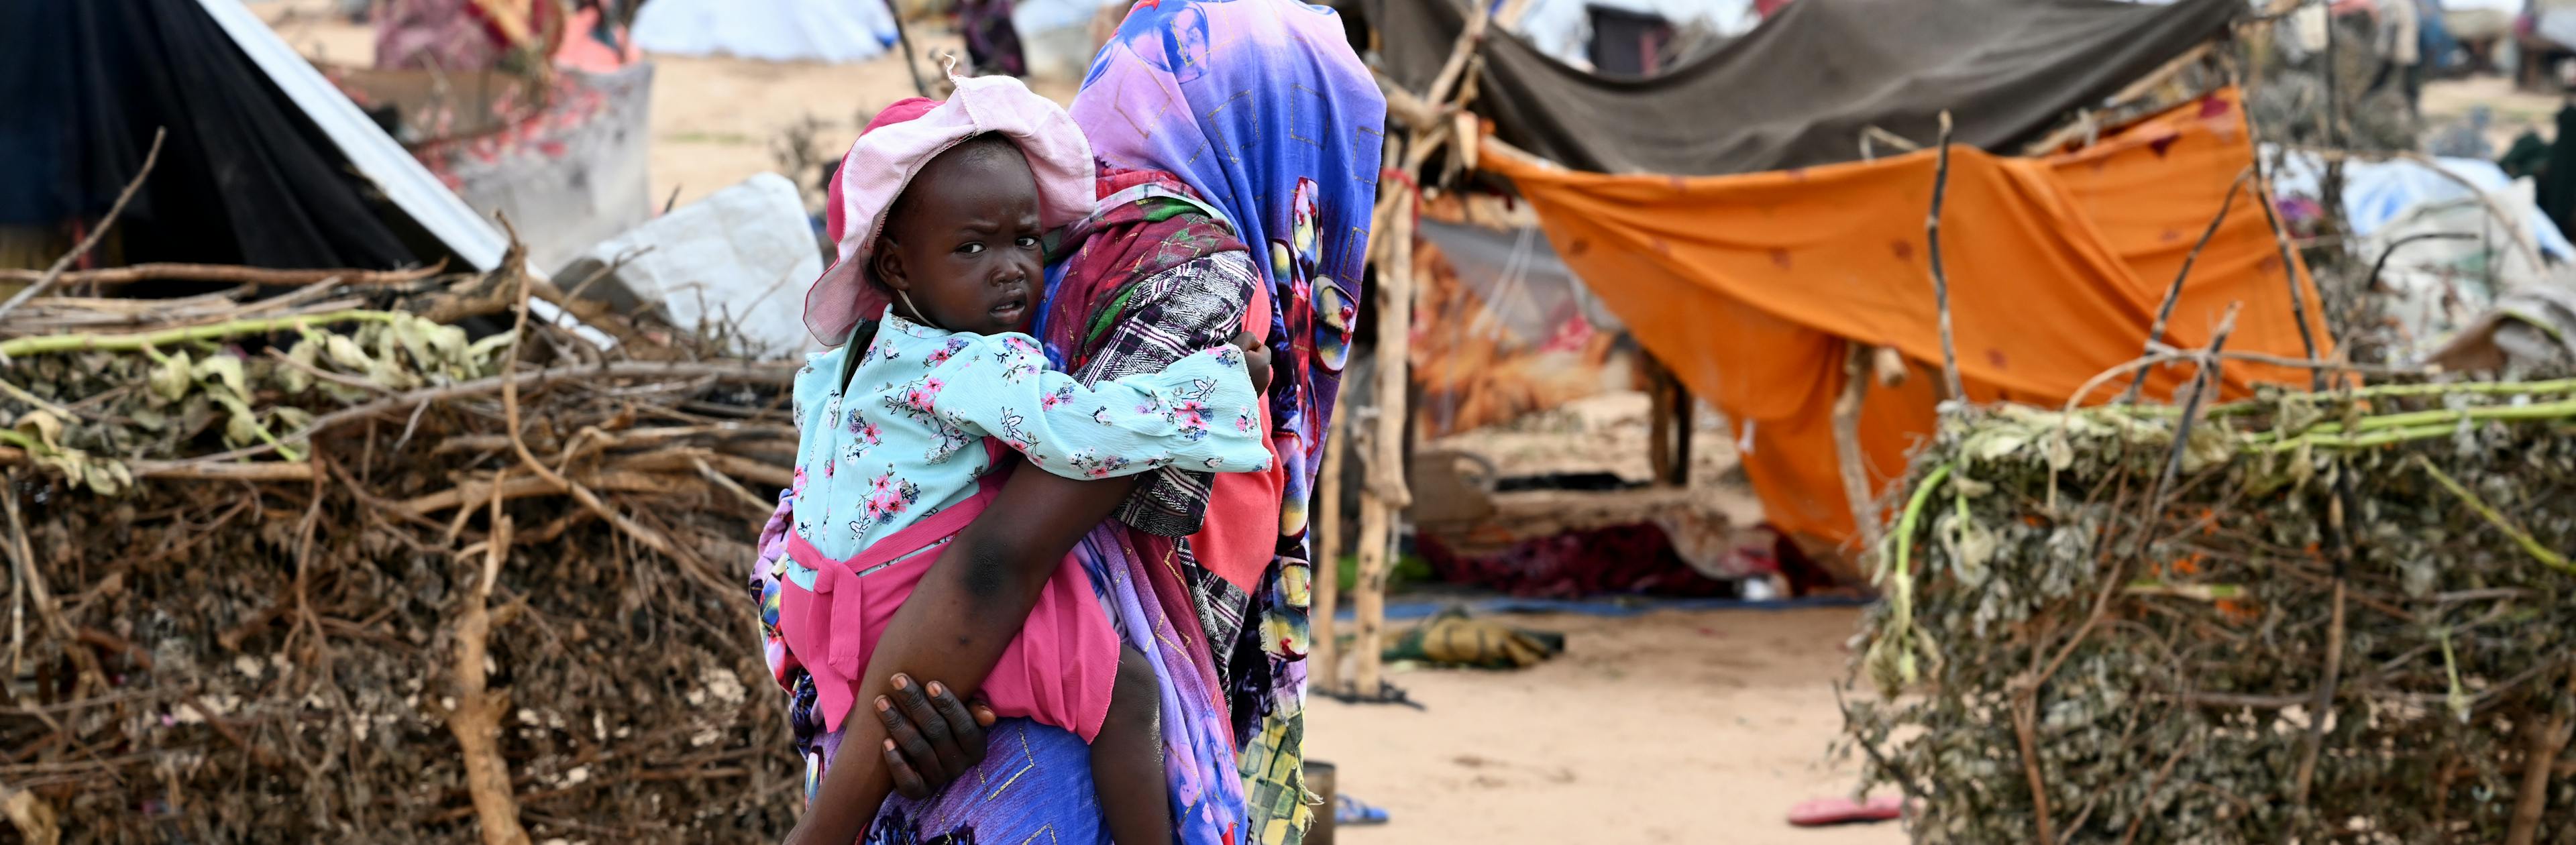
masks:
{"label": "black tent with white sloping edge behind the left brush fence", "polygon": [[0,134],[0,232],[93,222],[167,131],[113,263],[489,271],[510,245],[240,0],[15,3],[0,70],[26,116]]}

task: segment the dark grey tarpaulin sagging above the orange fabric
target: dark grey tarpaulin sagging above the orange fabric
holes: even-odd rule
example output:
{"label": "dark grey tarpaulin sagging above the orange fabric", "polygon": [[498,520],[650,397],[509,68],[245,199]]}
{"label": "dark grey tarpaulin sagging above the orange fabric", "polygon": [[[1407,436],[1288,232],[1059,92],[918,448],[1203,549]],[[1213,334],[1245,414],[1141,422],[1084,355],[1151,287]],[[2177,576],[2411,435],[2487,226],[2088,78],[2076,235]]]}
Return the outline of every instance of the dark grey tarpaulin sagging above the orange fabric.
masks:
{"label": "dark grey tarpaulin sagging above the orange fabric", "polygon": [[[1368,0],[1388,75],[1430,88],[1463,0]],[[2014,149],[2228,28],[2244,0],[1798,0],[1646,80],[1566,67],[1492,33],[1473,111],[1504,142],[1595,173],[1718,175],[1847,162],[1880,126]]]}

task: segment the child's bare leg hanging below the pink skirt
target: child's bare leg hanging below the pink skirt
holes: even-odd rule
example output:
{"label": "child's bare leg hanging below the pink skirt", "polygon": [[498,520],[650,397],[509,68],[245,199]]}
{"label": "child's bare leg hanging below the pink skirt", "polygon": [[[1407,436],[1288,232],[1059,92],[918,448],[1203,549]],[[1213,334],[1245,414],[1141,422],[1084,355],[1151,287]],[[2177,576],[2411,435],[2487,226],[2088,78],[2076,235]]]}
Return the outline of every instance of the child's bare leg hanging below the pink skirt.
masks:
{"label": "child's bare leg hanging below the pink skirt", "polygon": [[1118,647],[1110,714],[1092,739],[1092,783],[1110,842],[1172,842],[1172,796],[1162,773],[1162,683],[1136,647]]}

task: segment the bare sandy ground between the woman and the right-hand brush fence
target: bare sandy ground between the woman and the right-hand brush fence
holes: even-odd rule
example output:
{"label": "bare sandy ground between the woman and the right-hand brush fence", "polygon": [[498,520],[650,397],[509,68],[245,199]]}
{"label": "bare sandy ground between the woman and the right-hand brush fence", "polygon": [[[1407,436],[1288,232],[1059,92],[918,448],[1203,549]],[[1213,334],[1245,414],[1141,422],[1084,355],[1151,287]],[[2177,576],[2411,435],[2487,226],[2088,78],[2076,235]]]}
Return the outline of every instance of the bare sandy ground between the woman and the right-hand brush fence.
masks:
{"label": "bare sandy ground between the woman and the right-hand brush fence", "polygon": [[1386,827],[1340,842],[1904,842],[1891,824],[1798,830],[1847,793],[1832,683],[1857,611],[1515,616],[1566,634],[1520,672],[1391,675],[1425,708],[1314,701],[1306,752]]}

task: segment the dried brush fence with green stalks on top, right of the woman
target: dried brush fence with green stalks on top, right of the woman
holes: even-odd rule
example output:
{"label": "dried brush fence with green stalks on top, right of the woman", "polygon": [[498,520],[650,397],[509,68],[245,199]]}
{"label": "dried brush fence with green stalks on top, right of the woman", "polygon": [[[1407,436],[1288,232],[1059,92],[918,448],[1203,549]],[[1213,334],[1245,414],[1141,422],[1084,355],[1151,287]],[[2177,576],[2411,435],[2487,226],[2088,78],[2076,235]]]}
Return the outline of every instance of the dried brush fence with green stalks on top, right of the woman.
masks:
{"label": "dried brush fence with green stalks on top, right of the woman", "polygon": [[2576,842],[2576,381],[1965,410],[1901,489],[1914,840]]}

